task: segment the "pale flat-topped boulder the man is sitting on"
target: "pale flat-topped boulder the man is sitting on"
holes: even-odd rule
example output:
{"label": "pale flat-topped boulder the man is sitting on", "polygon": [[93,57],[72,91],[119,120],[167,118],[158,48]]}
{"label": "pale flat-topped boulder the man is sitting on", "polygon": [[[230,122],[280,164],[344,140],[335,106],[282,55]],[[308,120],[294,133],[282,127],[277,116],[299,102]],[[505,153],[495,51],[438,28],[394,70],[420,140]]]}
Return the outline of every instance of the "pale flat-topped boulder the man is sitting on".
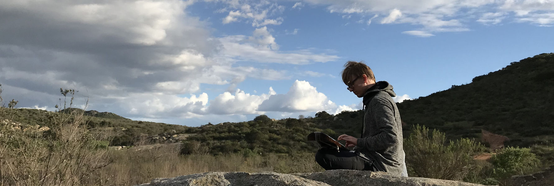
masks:
{"label": "pale flat-topped boulder the man is sitting on", "polygon": [[480,184],[452,180],[391,176],[384,172],[333,170],[315,173],[280,174],[275,172],[206,172],[175,178],[155,178],[141,186],[216,185],[216,186],[478,186]]}

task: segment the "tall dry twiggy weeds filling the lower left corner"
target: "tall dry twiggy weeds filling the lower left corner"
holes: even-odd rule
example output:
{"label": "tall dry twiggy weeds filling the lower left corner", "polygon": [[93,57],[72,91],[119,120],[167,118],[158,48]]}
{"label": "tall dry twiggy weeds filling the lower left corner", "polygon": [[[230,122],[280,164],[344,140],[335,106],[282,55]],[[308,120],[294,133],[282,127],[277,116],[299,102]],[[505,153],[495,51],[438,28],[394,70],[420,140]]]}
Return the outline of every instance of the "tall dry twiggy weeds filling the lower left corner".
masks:
{"label": "tall dry twiggy weeds filling the lower left corner", "polygon": [[[71,107],[75,91],[60,92]],[[111,163],[109,151],[96,149],[83,111],[50,113],[48,126],[39,126],[12,121],[14,107],[0,108],[0,185],[91,185],[91,173]]]}

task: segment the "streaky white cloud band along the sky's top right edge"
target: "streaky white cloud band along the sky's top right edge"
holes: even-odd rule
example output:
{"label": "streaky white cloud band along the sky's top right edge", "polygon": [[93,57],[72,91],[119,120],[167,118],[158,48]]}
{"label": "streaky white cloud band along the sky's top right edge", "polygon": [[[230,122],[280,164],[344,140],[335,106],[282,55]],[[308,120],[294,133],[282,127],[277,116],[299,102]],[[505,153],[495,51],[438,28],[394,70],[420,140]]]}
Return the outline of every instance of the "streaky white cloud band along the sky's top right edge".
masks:
{"label": "streaky white cloud band along the sky's top right edge", "polygon": [[[478,20],[482,24],[499,24],[511,19],[520,23],[538,26],[552,25],[551,0],[444,0],[444,1],[365,1],[365,0],[305,0],[304,3],[327,6],[330,12],[342,13],[342,18],[351,14],[383,16],[381,24],[398,23],[419,26],[413,30],[416,36],[433,36],[433,33],[469,31],[468,22]],[[391,11],[392,10],[392,11]],[[402,11],[401,11],[402,10]],[[496,10],[496,13],[487,13]],[[516,17],[510,16],[514,12]],[[483,14],[475,18],[475,14]],[[372,20],[367,20],[371,24]]]}

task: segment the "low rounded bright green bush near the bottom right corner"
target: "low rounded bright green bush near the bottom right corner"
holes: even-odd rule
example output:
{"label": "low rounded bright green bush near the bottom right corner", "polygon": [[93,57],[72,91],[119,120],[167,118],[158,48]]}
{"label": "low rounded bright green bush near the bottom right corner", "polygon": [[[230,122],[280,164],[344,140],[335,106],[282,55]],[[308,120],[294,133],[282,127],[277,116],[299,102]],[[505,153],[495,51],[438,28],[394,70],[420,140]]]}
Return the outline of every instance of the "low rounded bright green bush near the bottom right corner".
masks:
{"label": "low rounded bright green bush near the bottom right corner", "polygon": [[529,148],[507,147],[491,157],[493,172],[497,178],[532,173],[539,162]]}

